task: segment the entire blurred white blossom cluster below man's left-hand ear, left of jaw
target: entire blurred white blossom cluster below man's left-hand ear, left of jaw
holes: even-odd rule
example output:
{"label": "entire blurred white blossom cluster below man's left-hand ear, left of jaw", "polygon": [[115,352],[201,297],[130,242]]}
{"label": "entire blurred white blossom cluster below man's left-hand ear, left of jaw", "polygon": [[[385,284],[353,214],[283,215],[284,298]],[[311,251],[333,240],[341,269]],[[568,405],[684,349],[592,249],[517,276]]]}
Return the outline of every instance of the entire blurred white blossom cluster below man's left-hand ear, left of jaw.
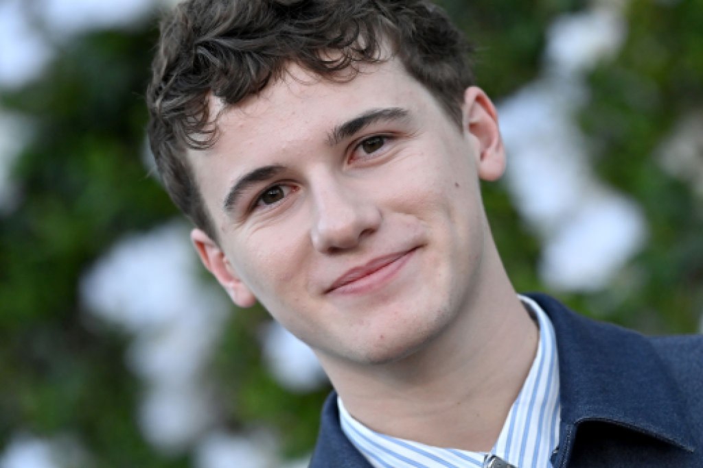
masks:
{"label": "entire blurred white blossom cluster below man's left-hand ear, left of jaw", "polygon": [[135,335],[127,361],[147,384],[141,429],[167,453],[186,450],[216,420],[205,367],[229,306],[198,272],[178,221],[120,241],[80,284],[89,312]]}

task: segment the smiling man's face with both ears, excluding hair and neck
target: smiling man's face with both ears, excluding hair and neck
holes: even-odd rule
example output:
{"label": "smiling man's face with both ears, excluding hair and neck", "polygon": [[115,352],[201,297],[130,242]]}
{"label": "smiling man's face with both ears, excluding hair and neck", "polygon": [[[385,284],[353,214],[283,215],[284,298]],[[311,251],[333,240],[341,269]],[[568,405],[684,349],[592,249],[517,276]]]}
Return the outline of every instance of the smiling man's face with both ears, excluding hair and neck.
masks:
{"label": "smiling man's face with both ears, excluding hair and neck", "polygon": [[401,359],[482,281],[479,178],[503,171],[494,109],[470,88],[460,129],[396,60],[347,83],[288,72],[189,154],[219,244],[193,240],[234,302],[258,299],[321,358]]}

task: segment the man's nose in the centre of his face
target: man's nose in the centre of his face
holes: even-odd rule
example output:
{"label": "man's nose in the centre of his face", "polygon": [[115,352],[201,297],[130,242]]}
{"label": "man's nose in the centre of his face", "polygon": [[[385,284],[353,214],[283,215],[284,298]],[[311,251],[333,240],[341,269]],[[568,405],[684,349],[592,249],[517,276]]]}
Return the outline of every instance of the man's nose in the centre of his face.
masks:
{"label": "man's nose in the centre of his face", "polygon": [[321,253],[353,249],[378,230],[382,215],[368,193],[331,181],[314,195],[311,229],[314,248]]}

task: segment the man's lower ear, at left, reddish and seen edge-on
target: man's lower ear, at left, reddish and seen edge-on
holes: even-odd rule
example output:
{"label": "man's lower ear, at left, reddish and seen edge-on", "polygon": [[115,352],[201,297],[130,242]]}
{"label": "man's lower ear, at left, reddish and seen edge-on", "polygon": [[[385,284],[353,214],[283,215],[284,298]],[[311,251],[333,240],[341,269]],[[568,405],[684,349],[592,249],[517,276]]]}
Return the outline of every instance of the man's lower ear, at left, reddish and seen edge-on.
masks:
{"label": "man's lower ear, at left, reddish and seen edge-on", "polygon": [[191,231],[191,241],[200,255],[202,265],[205,265],[205,268],[217,278],[217,281],[231,297],[232,302],[239,307],[252,307],[257,303],[257,298],[239,279],[224,251],[219,248],[216,242],[200,229]]}

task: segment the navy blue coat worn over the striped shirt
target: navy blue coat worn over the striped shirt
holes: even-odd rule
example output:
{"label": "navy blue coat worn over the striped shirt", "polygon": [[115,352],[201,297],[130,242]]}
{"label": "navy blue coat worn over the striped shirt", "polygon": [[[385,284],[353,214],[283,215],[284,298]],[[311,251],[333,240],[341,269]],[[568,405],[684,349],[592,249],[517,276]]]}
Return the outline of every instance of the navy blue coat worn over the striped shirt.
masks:
{"label": "navy blue coat worn over the striped shirt", "polygon": [[[529,295],[551,319],[561,417],[554,467],[703,468],[703,336],[645,337]],[[311,468],[370,468],[325,401]]]}

